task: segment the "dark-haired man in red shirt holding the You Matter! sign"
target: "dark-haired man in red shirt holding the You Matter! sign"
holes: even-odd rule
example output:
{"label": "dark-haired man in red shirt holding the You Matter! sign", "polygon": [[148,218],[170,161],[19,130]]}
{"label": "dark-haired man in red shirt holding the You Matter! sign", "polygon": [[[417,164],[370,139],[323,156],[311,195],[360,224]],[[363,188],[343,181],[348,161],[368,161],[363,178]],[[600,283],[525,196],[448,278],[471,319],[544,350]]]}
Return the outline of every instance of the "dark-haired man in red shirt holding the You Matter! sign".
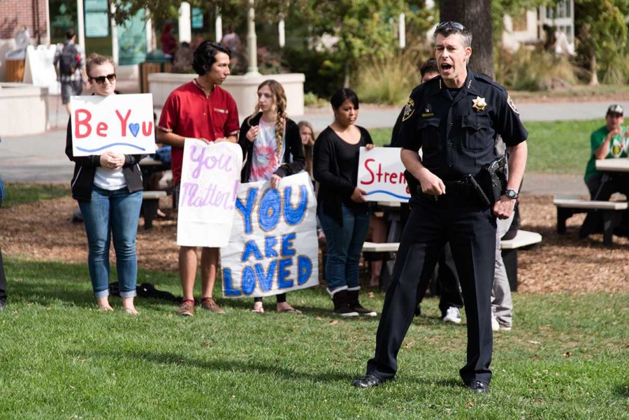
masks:
{"label": "dark-haired man in red shirt holding the You Matter! sign", "polygon": [[[186,138],[197,138],[206,143],[231,141],[237,143],[238,109],[236,101],[219,87],[229,75],[231,51],[224,45],[203,41],[194,51],[192,67],[198,78],[173,90],[161,110],[157,141],[172,146],[171,168],[175,183],[175,200],[179,200],[183,147]],[[203,248],[201,252],[201,306],[212,312],[223,313],[212,290],[216,278],[219,248]],[[196,247],[180,247],[179,273],[183,300],[177,314],[194,314],[194,277],[196,276]]]}

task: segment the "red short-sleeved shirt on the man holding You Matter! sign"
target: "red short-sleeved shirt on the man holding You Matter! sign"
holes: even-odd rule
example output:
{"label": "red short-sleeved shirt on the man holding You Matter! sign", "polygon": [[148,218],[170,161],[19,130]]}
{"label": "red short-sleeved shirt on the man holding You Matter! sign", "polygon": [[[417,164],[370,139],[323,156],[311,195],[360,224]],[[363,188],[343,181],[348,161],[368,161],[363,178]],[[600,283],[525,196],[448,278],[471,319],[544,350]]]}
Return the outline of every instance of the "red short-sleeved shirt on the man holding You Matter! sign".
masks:
{"label": "red short-sleeved shirt on the man holding You Matter! sign", "polygon": [[[217,138],[238,136],[238,108],[229,92],[218,85],[209,96],[198,86],[196,80],[173,90],[159,117],[161,131],[190,138]],[[172,147],[171,169],[173,182],[179,184],[183,164],[183,147]]]}

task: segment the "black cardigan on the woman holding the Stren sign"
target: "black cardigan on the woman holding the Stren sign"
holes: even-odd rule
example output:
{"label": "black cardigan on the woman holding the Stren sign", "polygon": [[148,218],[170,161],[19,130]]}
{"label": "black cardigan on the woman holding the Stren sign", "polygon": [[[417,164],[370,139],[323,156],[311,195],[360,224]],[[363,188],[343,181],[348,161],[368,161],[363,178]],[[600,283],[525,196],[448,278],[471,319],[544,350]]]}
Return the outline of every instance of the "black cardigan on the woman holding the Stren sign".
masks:
{"label": "black cardigan on the woman holding the Stren sign", "polygon": [[[365,128],[356,126],[361,131],[361,146],[373,144],[373,140]],[[315,180],[319,182],[319,194],[317,194],[317,205],[326,215],[335,219],[342,226],[341,203],[350,200],[356,185],[352,185],[347,180],[340,178],[340,168],[336,157],[336,143],[342,141],[328,126],[319,133],[315,141],[315,151],[312,163]],[[356,171],[358,171],[358,161],[356,161]],[[356,203],[360,207],[359,203]],[[368,205],[364,205],[367,210]]]}

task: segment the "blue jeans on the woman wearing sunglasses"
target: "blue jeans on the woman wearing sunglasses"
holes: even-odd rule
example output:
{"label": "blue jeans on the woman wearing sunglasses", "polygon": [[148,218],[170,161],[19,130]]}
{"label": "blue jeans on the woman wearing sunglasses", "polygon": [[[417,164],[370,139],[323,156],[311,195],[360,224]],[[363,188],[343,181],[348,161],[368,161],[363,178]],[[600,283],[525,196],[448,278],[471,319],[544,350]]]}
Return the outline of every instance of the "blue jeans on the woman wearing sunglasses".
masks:
{"label": "blue jeans on the woman wearing sunglasses", "polygon": [[79,201],[85,223],[89,254],[87,266],[96,298],[109,296],[109,244],[113,236],[120,296],[136,296],[138,259],[136,234],[142,191],[126,188],[108,191],[92,187],[92,201]]}

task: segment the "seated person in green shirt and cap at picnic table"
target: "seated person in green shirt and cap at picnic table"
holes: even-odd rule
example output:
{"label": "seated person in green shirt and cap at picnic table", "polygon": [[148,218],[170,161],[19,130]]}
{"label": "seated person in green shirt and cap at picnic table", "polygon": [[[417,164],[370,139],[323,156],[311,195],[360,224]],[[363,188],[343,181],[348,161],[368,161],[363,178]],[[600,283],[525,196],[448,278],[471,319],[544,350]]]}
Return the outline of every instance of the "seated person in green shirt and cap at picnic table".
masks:
{"label": "seated person in green shirt and cap at picnic table", "polygon": [[586,166],[585,183],[590,191],[592,200],[609,200],[615,192],[627,194],[629,192],[626,174],[600,173],[596,171],[596,159],[612,159],[628,157],[629,138],[624,122],[623,107],[610,105],[605,115],[606,124],[594,131],[590,136],[592,154]]}

